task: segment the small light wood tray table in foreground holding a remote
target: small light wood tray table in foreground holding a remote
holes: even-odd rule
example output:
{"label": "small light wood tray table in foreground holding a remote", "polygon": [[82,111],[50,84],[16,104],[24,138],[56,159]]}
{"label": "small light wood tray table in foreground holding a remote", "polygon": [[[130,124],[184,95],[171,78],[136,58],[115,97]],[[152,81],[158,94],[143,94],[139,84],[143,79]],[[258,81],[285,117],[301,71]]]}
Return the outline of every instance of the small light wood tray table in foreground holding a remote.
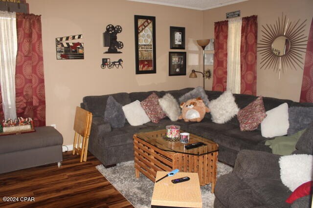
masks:
{"label": "small light wood tray table in foreground holding a remote", "polygon": [[[169,172],[157,171],[156,179],[162,178]],[[171,180],[189,177],[189,181],[173,184]],[[178,172],[155,183],[151,207],[186,207],[202,208],[201,190],[197,173]]]}

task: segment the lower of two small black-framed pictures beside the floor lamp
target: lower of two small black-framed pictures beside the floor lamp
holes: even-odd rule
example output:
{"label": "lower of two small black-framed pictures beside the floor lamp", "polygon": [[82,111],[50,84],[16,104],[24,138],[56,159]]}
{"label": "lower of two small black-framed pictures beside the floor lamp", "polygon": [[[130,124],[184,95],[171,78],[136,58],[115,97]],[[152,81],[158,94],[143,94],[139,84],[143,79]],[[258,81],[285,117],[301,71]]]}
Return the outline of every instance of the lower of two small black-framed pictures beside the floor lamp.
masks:
{"label": "lower of two small black-framed pictures beside the floor lamp", "polygon": [[186,52],[169,52],[169,76],[186,75]]}

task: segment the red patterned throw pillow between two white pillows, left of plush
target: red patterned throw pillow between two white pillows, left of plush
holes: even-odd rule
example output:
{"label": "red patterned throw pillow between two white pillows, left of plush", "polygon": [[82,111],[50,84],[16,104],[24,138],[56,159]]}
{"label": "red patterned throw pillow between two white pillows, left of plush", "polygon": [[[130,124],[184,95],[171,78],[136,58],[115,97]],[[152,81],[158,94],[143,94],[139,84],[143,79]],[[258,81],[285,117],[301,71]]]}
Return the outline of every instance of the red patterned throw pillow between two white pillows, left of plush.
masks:
{"label": "red patterned throw pillow between two white pillows, left of plush", "polygon": [[146,114],[153,123],[159,123],[161,119],[166,117],[166,114],[158,104],[159,97],[156,93],[152,93],[145,100],[141,101],[141,107],[146,111]]}

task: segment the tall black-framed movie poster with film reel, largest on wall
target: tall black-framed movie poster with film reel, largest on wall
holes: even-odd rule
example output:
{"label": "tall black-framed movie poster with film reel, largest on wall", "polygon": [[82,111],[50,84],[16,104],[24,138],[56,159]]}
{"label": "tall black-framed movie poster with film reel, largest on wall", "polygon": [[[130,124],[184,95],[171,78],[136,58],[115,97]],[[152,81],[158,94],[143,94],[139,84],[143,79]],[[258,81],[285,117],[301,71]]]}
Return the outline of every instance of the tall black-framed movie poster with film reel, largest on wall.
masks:
{"label": "tall black-framed movie poster with film reel, largest on wall", "polygon": [[134,16],[136,74],[156,73],[156,17]]}

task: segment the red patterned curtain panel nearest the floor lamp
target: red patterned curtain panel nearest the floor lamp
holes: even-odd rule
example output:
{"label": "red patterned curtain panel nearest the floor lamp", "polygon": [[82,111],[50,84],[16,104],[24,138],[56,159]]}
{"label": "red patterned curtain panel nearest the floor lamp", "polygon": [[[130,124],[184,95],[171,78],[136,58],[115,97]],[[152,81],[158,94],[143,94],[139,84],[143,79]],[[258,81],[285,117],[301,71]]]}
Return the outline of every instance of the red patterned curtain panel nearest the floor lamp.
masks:
{"label": "red patterned curtain panel nearest the floor lamp", "polygon": [[214,91],[225,91],[227,86],[227,37],[228,21],[219,21],[214,24]]}

